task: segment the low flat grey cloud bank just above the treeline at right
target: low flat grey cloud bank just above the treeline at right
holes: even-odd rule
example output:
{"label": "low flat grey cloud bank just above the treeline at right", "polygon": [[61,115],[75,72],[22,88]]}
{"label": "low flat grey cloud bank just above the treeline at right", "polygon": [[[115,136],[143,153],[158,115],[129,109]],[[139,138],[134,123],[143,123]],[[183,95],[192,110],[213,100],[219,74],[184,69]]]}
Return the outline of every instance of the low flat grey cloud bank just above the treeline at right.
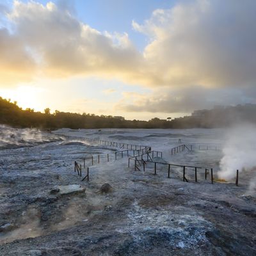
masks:
{"label": "low flat grey cloud bank just above the treeline at right", "polygon": [[115,105],[116,111],[149,113],[191,113],[195,109],[213,108],[218,105],[236,105],[239,103],[256,103],[252,98],[244,98],[241,90],[227,88],[174,88],[154,90],[151,93],[123,93],[123,99]]}

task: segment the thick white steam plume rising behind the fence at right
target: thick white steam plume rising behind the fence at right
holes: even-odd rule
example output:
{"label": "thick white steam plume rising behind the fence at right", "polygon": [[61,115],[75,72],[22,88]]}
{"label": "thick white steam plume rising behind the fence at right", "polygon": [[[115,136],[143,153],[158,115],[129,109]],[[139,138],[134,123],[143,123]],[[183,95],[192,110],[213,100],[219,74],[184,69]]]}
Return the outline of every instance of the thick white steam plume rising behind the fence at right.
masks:
{"label": "thick white steam plume rising behind the fence at right", "polygon": [[[255,125],[244,124],[229,129],[223,154],[220,172],[218,172],[218,177],[221,179],[233,179],[236,177],[236,170],[239,170],[240,173],[253,172],[256,166]],[[253,184],[251,186],[253,187]]]}

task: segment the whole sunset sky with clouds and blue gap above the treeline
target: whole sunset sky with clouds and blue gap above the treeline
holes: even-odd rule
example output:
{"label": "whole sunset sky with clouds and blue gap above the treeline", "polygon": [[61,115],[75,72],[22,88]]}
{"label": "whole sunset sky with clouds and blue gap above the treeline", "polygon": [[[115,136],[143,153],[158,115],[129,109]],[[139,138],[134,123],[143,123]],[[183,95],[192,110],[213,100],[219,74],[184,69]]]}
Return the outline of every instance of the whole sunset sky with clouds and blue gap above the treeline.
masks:
{"label": "whole sunset sky with clouds and blue gap above the treeline", "polygon": [[254,0],[0,0],[0,96],[148,120],[256,104]]}

